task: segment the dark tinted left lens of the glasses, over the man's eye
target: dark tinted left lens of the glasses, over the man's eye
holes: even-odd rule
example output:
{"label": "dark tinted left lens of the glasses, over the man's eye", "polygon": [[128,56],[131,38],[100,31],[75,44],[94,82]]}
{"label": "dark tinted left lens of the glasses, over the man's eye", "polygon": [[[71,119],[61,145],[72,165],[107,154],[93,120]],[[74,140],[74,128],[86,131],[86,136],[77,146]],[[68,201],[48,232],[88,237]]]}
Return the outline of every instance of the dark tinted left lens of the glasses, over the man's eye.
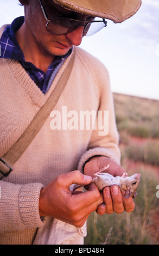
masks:
{"label": "dark tinted left lens of the glasses, over the man's eye", "polygon": [[65,17],[53,17],[47,23],[46,29],[52,34],[60,35],[74,31],[79,25],[79,21],[69,20]]}

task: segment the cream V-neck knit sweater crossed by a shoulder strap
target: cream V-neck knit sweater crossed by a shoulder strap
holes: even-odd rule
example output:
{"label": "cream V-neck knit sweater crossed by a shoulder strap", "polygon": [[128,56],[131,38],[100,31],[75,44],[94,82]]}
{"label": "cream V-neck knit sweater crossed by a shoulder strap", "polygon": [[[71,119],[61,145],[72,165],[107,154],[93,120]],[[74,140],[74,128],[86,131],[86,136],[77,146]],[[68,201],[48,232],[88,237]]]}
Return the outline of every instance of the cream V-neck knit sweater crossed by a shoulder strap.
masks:
{"label": "cream V-neck knit sweater crossed by a shoulder strap", "polygon": [[[2,31],[1,31],[2,33]],[[68,59],[44,95],[22,68],[11,59],[0,59],[0,156],[17,141],[31,119],[46,102],[56,86]],[[64,108],[63,108],[64,107]],[[99,136],[96,130],[53,130],[55,116],[67,113],[109,111],[109,133]],[[79,169],[94,155],[111,157],[119,162],[118,132],[108,72],[103,64],[77,47],[73,70],[54,111],[14,170],[0,181],[0,244],[31,244],[36,230],[43,225],[39,216],[39,193],[59,174]],[[63,113],[64,114],[64,113]],[[65,116],[66,117],[66,116]],[[67,117],[67,121],[71,117]],[[54,122],[55,127],[55,122]]]}

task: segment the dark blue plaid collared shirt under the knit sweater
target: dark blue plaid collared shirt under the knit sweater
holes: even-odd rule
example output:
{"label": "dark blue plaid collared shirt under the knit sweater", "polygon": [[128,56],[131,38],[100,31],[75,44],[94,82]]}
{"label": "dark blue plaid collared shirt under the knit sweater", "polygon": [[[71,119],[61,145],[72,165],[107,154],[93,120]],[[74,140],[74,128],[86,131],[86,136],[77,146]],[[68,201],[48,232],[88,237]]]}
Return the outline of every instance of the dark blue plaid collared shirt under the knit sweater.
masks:
{"label": "dark blue plaid collared shirt under the knit sweater", "polygon": [[0,38],[1,44],[1,56],[0,58],[14,59],[20,62],[23,68],[27,71],[31,79],[36,83],[36,85],[46,93],[48,88],[48,81],[52,75],[52,80],[56,73],[60,69],[65,58],[69,56],[72,50],[69,50],[65,56],[57,56],[52,64],[49,65],[47,72],[45,73],[41,69],[36,68],[36,66],[31,62],[26,62],[24,54],[18,45],[15,37],[15,32],[22,26],[24,22],[24,17],[18,17],[12,21],[10,26],[4,29],[4,32]]}

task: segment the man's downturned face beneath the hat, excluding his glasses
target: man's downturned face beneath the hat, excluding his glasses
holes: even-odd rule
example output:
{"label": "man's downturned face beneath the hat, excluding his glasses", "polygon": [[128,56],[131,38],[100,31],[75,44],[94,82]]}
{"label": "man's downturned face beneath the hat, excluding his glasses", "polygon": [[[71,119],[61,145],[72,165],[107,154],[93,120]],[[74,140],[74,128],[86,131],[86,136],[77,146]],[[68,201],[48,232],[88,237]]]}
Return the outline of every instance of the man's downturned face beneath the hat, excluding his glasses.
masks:
{"label": "man's downturned face beneath the hat, excluding his glasses", "polygon": [[[72,11],[63,9],[59,5],[56,5],[52,0],[43,1],[42,4],[48,19],[51,19],[53,16],[65,16],[72,19],[86,20],[86,15],[81,15],[74,13]],[[82,32],[84,27],[80,26],[75,31],[65,34],[65,35],[55,35],[50,34],[46,31],[46,19],[41,10],[39,0],[28,1],[28,4],[25,7],[25,21],[26,26],[29,28],[29,36],[34,38],[35,46],[41,47],[43,52],[49,53],[53,56],[61,56],[66,54],[68,50],[73,45],[80,45],[82,41]]]}

